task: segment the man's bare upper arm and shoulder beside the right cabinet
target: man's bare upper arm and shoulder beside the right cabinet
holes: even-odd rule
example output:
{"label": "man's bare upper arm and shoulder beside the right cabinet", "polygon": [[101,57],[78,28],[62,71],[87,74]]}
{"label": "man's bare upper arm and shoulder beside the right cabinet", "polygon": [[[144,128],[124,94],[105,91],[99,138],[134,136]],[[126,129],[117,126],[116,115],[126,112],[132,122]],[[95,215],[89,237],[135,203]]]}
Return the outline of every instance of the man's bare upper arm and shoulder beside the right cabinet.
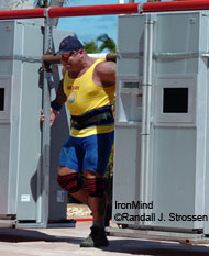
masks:
{"label": "man's bare upper arm and shoulder beside the right cabinet", "polygon": [[109,87],[116,85],[117,64],[113,62],[99,63],[94,73],[94,81],[97,86]]}

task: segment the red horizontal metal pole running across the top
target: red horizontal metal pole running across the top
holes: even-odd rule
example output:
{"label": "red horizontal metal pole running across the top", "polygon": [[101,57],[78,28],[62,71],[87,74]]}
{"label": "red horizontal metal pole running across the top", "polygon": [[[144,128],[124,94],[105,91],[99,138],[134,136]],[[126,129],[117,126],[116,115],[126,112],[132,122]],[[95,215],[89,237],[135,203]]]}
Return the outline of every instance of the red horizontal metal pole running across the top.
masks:
{"label": "red horizontal metal pole running across the top", "polygon": [[[209,1],[170,1],[50,8],[48,18],[132,14],[145,12],[209,10]],[[0,11],[0,20],[44,18],[44,9]]]}

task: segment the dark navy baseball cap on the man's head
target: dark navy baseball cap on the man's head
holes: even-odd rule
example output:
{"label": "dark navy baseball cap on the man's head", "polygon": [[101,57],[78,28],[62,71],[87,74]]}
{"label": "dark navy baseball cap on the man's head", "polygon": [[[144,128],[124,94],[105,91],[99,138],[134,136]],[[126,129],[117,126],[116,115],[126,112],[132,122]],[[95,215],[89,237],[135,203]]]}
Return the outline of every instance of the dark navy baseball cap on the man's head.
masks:
{"label": "dark navy baseball cap on the man's head", "polygon": [[59,54],[68,54],[74,51],[78,51],[80,48],[84,48],[85,46],[80,43],[79,40],[77,40],[75,36],[67,36],[65,37],[61,44],[59,44],[59,51],[55,53],[55,55]]}

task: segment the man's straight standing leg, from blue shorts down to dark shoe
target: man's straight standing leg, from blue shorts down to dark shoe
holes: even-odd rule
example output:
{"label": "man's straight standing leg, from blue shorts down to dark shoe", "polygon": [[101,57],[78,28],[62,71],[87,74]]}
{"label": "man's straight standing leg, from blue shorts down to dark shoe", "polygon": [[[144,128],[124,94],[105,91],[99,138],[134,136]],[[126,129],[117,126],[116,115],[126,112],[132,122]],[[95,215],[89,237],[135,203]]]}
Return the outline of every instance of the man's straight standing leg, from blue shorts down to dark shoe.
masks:
{"label": "man's straight standing leg, from blue shorts down to dark shoe", "polygon": [[98,134],[86,138],[84,156],[84,188],[88,192],[88,203],[94,222],[90,235],[80,244],[81,247],[100,247],[109,244],[105,231],[107,199],[103,175],[107,169],[113,143],[113,133]]}

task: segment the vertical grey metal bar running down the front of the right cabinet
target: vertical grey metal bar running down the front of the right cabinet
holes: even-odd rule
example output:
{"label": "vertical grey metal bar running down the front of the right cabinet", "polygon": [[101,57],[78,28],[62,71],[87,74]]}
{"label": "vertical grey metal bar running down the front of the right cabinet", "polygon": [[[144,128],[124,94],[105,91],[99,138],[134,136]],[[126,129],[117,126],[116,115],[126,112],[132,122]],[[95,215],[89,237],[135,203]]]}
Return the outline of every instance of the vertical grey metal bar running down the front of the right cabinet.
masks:
{"label": "vertical grey metal bar running down the front of the right cabinet", "polygon": [[[151,85],[153,62],[153,21],[151,14],[144,24],[143,56],[143,97],[142,97],[142,131],[141,131],[141,180],[140,199],[148,203],[151,199],[152,177],[150,170],[150,134],[151,134]],[[142,212],[143,213],[143,212]]]}

